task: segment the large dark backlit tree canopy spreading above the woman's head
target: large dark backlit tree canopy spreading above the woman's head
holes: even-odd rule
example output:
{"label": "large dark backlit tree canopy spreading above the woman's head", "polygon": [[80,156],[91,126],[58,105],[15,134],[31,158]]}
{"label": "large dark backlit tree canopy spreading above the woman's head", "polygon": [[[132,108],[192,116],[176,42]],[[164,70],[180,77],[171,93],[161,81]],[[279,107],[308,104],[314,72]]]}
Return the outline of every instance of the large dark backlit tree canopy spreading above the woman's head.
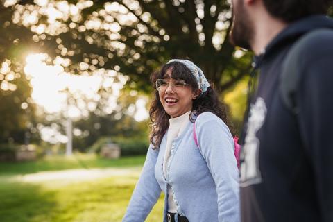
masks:
{"label": "large dark backlit tree canopy spreading above the woman's head", "polygon": [[128,87],[146,92],[150,74],[171,58],[189,57],[221,91],[248,72],[249,57],[234,57],[228,41],[232,16],[226,0],[36,2],[2,6],[2,33],[13,35],[5,37],[5,54],[14,41],[20,50],[62,58],[73,74],[121,72],[130,77]]}

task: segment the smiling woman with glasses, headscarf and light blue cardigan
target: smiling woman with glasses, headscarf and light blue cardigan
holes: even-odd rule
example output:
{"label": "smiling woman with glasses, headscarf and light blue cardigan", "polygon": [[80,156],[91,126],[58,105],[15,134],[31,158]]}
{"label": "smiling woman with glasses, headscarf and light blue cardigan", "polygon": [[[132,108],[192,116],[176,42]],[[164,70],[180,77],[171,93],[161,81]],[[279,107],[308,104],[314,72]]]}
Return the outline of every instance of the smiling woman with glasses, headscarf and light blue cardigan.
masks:
{"label": "smiling woman with glasses, headscarf and light blue cardigan", "polygon": [[232,128],[203,71],[170,60],[151,79],[151,145],[123,221],[144,221],[161,191],[163,221],[239,221]]}

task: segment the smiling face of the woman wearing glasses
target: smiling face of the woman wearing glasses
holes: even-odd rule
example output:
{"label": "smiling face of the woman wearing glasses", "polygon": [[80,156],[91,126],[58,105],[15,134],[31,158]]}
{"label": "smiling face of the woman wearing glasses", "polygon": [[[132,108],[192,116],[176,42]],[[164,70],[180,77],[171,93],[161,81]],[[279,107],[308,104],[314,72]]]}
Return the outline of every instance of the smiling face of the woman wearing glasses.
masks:
{"label": "smiling face of the woman wearing glasses", "polygon": [[190,85],[182,86],[182,80],[171,78],[172,69],[173,67],[167,69],[163,78],[164,84],[158,93],[165,112],[175,118],[191,111],[193,99],[198,96],[198,92],[194,92]]}

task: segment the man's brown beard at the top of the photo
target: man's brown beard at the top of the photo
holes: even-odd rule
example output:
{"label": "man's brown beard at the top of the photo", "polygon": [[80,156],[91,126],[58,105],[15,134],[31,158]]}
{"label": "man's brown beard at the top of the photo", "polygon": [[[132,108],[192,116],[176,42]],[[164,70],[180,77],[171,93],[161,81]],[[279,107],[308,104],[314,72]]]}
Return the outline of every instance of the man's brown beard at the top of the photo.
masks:
{"label": "man's brown beard at the top of the photo", "polygon": [[233,7],[234,20],[230,32],[230,42],[234,46],[251,49],[250,42],[253,40],[253,24],[248,12],[245,10],[243,1],[239,1]]}

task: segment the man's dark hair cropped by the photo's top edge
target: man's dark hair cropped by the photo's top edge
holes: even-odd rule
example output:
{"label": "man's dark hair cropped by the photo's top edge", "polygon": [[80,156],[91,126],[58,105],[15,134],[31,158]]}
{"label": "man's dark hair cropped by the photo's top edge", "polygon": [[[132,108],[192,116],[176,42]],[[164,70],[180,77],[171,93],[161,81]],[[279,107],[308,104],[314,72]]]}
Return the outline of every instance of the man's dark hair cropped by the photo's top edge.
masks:
{"label": "man's dark hair cropped by the photo's top edge", "polygon": [[264,0],[268,12],[284,22],[294,22],[309,15],[326,14],[333,0]]}

